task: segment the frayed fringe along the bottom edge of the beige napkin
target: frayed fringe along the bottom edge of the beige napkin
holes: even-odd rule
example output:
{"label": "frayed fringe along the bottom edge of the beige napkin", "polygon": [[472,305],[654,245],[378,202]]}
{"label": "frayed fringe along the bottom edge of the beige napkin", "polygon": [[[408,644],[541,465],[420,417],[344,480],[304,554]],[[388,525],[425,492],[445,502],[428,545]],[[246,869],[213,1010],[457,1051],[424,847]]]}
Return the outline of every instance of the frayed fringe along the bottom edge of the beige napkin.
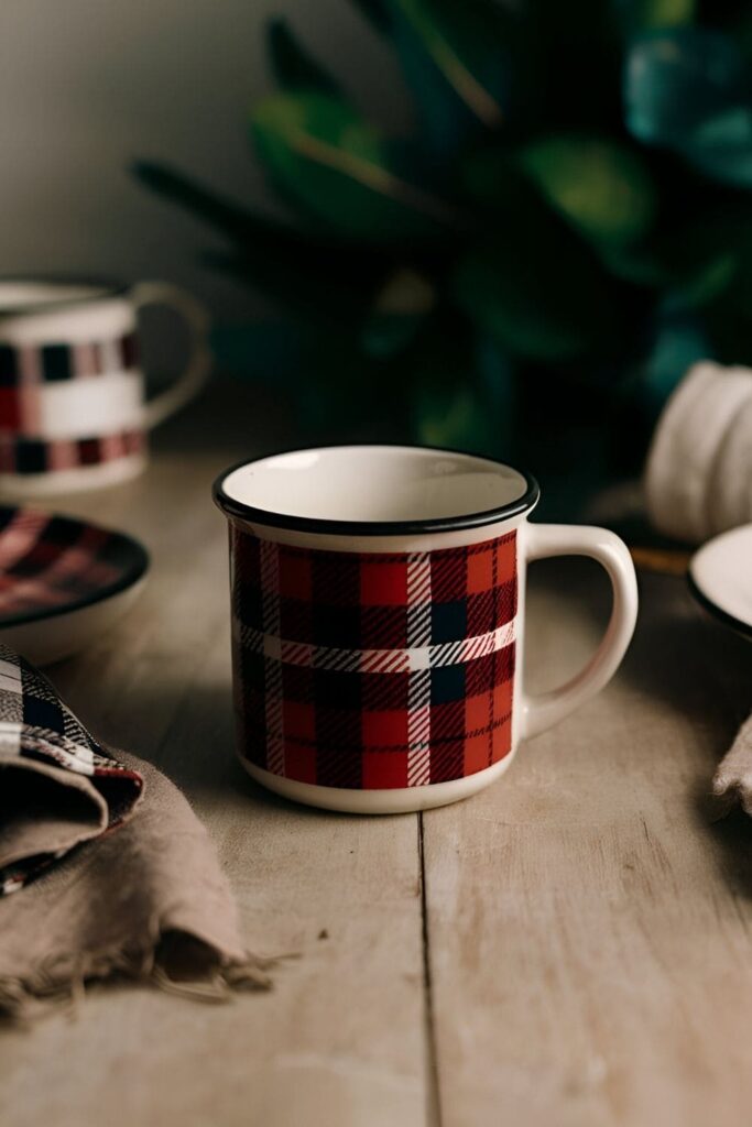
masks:
{"label": "frayed fringe along the bottom edge of the beige napkin", "polygon": [[[241,959],[227,958],[213,943],[185,933],[186,942],[200,944],[202,966],[185,978],[174,978],[160,959],[161,929],[153,942],[139,948],[110,947],[86,955],[56,955],[43,962],[33,975],[17,978],[0,976],[0,1015],[28,1022],[59,1006],[76,1011],[88,983],[112,977],[151,983],[166,994],[196,1002],[223,1003],[237,991],[271,990],[268,970],[277,961],[246,952]],[[170,937],[175,932],[169,932]]]}

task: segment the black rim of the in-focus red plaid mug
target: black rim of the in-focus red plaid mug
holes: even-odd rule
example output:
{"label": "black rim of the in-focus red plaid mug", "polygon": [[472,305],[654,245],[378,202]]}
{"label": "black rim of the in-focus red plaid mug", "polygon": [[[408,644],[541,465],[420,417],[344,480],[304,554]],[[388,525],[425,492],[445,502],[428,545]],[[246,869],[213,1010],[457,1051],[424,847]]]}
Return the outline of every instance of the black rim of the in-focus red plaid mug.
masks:
{"label": "black rim of the in-focus red plaid mug", "polygon": [[[393,449],[393,450],[416,450],[432,451],[436,454],[457,454],[461,458],[471,458],[489,462],[492,465],[501,465],[505,469],[514,470],[524,480],[524,492],[514,500],[504,505],[496,505],[493,508],[479,509],[476,513],[461,513],[458,516],[441,517],[418,517],[397,521],[350,521],[333,517],[300,516],[294,513],[276,513],[274,509],[257,508],[254,505],[246,505],[235,497],[231,497],[224,489],[224,482],[237,470],[246,465],[254,465],[271,458],[281,458],[284,454],[303,454],[322,450],[364,450],[369,447]],[[488,458],[485,454],[476,454],[468,450],[457,450],[449,446],[418,446],[409,443],[393,442],[348,442],[331,443],[326,446],[300,446],[272,451],[267,454],[259,454],[256,458],[244,458],[227,470],[223,470],[214,479],[212,485],[212,498],[214,504],[225,516],[236,520],[262,524],[272,529],[287,529],[294,532],[321,533],[325,535],[345,536],[400,536],[422,535],[435,532],[459,532],[466,529],[478,529],[488,524],[497,524],[508,521],[514,516],[530,512],[540,499],[540,486],[536,478],[528,470],[520,470],[515,465],[502,462],[497,458]]]}

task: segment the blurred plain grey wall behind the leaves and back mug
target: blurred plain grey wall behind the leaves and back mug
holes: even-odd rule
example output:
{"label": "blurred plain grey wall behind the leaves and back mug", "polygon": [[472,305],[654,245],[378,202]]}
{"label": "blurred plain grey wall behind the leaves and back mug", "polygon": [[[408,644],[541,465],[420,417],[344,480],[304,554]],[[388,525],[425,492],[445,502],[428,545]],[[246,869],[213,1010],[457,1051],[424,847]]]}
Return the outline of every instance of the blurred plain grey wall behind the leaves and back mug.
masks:
{"label": "blurred plain grey wall behind the leaves and back mug", "polygon": [[399,127],[393,53],[346,0],[1,0],[0,273],[165,277],[215,312],[246,311],[247,292],[196,264],[203,229],[127,166],[158,158],[274,207],[246,136],[271,85],[272,12],[293,17],[361,105]]}

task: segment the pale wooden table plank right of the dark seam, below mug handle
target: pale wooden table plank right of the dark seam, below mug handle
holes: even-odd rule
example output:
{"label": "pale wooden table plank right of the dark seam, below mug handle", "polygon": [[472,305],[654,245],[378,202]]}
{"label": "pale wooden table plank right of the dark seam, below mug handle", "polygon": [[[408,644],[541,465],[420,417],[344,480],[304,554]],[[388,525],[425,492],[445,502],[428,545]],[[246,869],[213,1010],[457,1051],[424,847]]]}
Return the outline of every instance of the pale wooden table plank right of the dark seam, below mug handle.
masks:
{"label": "pale wooden table plank right of the dark seam, below mug handle", "polygon": [[[531,587],[538,687],[600,629],[591,571],[545,567]],[[502,786],[424,816],[451,1127],[745,1120],[751,827],[711,825],[704,796],[749,708],[752,650],[702,621],[675,579],[647,577],[642,595],[612,685],[522,747]]]}

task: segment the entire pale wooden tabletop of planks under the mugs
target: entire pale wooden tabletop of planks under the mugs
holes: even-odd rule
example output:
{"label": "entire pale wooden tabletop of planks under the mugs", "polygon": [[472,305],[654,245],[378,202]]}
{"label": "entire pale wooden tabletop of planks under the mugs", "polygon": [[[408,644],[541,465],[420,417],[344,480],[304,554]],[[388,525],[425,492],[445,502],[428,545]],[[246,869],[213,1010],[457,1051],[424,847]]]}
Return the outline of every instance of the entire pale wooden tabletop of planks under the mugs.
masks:
{"label": "entire pale wooden tabletop of planks under the mugs", "polygon": [[[225,530],[214,476],[285,445],[238,392],[160,435],[149,472],[67,502],[153,556],[143,598],[51,671],[103,738],[183,787],[248,944],[299,952],[207,1006],[91,988],[0,1033],[3,1127],[738,1127],[752,1106],[752,825],[704,796],[750,704],[752,647],[682,580],[642,576],[612,684],[466,802],[317,813],[233,761]],[[227,402],[224,402],[227,407]],[[593,648],[605,580],[536,565],[528,676]]]}

